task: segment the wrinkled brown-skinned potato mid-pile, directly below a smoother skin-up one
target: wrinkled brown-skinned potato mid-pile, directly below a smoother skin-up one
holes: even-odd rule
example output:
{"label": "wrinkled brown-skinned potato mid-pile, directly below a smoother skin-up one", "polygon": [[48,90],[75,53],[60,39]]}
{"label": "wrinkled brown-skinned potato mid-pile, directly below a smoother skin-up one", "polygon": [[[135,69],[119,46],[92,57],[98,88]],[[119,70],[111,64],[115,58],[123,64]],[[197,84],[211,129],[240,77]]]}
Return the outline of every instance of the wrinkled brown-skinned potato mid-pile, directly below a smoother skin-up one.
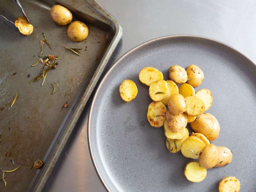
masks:
{"label": "wrinkled brown-skinned potato mid-pile, directly below a smoother skin-up one", "polygon": [[186,114],[181,113],[178,115],[173,115],[169,110],[166,112],[166,120],[169,129],[172,132],[180,132],[188,123],[188,117]]}

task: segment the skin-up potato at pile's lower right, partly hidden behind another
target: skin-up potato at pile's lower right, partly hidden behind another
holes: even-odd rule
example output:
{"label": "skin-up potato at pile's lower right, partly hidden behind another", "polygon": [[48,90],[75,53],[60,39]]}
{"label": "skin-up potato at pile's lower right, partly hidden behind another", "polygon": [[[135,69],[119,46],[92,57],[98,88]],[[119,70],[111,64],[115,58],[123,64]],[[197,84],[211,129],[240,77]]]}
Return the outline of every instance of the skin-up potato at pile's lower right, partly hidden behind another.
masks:
{"label": "skin-up potato at pile's lower right, partly hidden behind another", "polygon": [[233,159],[231,150],[227,147],[217,146],[218,149],[218,161],[215,167],[222,167],[230,164]]}

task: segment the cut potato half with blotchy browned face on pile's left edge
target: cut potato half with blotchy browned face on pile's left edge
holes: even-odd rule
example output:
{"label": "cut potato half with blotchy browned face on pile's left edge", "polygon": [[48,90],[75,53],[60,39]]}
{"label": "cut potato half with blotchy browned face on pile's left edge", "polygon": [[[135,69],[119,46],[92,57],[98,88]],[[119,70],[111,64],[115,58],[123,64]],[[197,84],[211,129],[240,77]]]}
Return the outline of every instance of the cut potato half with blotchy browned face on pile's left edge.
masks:
{"label": "cut potato half with blotchy browned face on pile's left edge", "polygon": [[167,109],[162,102],[152,102],[148,106],[148,122],[153,127],[162,127]]}

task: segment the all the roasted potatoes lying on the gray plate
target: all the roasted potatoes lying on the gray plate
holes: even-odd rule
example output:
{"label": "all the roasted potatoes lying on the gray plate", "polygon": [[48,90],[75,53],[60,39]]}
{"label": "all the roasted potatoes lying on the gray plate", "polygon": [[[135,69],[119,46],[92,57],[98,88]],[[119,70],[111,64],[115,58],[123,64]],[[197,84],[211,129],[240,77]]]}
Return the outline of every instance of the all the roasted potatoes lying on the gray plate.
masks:
{"label": "all the roasted potatoes lying on the gray plate", "polygon": [[[211,144],[219,137],[220,125],[212,114],[206,113],[213,103],[211,91],[195,92],[194,89],[203,82],[203,71],[194,64],[186,70],[174,65],[169,68],[169,78],[165,81],[162,72],[153,67],[140,71],[139,80],[149,86],[149,96],[153,100],[148,106],[147,118],[151,126],[164,127],[170,153],[181,151],[187,158],[199,159],[186,164],[184,175],[191,182],[200,182],[206,177],[207,169],[230,164],[232,152],[227,147]],[[124,101],[130,102],[138,89],[133,81],[124,80],[119,92]],[[194,131],[190,136],[186,128],[188,123]],[[225,177],[219,183],[220,192],[239,190],[240,182],[235,177]]]}

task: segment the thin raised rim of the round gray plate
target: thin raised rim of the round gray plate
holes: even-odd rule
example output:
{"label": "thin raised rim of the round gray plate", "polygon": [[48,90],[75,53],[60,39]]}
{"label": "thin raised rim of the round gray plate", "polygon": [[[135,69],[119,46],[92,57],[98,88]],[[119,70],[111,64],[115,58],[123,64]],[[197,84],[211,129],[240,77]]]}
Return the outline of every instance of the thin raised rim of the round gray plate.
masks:
{"label": "thin raised rim of the round gray plate", "polygon": [[96,102],[96,98],[98,95],[98,92],[100,90],[100,88],[102,87],[102,84],[106,81],[106,78],[109,76],[109,74],[113,71],[113,69],[119,64],[119,62],[122,61],[123,58],[125,58],[126,56],[128,56],[130,53],[138,50],[140,47],[143,47],[149,43],[152,43],[154,41],[158,41],[158,40],[164,40],[164,39],[169,39],[169,38],[177,38],[177,37],[189,37],[189,38],[198,38],[198,39],[203,39],[203,40],[209,40],[209,41],[213,41],[215,43],[219,43],[220,45],[224,45],[226,47],[228,47],[229,49],[239,53],[242,57],[248,59],[252,64],[254,64],[254,66],[256,66],[256,62],[254,62],[250,57],[248,57],[247,55],[245,55],[244,53],[242,53],[241,51],[237,50],[236,48],[222,42],[219,40],[215,40],[213,38],[209,38],[209,37],[203,37],[203,36],[197,36],[197,35],[167,35],[167,36],[162,36],[162,37],[157,37],[157,38],[153,38],[151,40],[145,41],[143,43],[140,43],[139,45],[131,48],[129,51],[127,51],[126,53],[124,53],[121,57],[119,57],[117,59],[117,61],[114,62],[114,64],[111,66],[111,68],[109,68],[109,70],[106,72],[106,74],[104,74],[104,77],[102,78],[101,82],[99,83],[94,95],[93,95],[93,99],[92,99],[92,103],[91,103],[91,107],[89,109],[89,114],[88,114],[88,121],[87,121],[87,140],[88,140],[88,147],[89,147],[89,153],[92,159],[92,164],[93,167],[99,177],[99,180],[101,181],[102,185],[104,186],[104,188],[107,190],[107,192],[111,192],[111,190],[109,189],[109,187],[107,186],[107,184],[105,183],[105,181],[103,180],[101,174],[99,173],[98,167],[96,165],[94,156],[93,156],[93,152],[92,152],[92,146],[91,146],[91,116],[92,116],[92,109],[94,107],[94,103]]}

